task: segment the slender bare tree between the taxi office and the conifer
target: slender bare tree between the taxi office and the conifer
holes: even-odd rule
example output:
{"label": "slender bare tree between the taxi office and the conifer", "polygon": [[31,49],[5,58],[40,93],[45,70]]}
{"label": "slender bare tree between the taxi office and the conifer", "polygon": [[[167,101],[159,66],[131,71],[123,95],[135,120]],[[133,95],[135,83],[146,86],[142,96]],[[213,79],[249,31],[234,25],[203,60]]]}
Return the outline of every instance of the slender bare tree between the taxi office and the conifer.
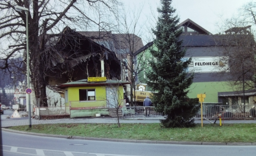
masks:
{"label": "slender bare tree between the taxi office and the conifer", "polygon": [[[119,47],[119,56],[122,60],[122,80],[131,82],[131,106],[134,106],[136,81],[143,72],[145,64],[142,62],[143,55],[137,56],[137,51],[143,47],[140,36],[145,33],[144,25],[140,25],[142,8],[137,10],[126,10],[122,6],[122,13],[118,17],[118,37],[115,43]],[[147,40],[146,42],[148,42]]]}

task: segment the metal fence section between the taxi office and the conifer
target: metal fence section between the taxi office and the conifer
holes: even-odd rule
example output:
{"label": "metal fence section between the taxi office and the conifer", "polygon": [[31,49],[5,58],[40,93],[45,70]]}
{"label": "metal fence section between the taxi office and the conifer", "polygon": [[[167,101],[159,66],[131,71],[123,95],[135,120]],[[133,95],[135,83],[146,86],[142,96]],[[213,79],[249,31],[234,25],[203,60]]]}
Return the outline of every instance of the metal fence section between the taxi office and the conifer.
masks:
{"label": "metal fence section between the taxi office and the conifer", "polygon": [[123,118],[164,118],[163,113],[154,111],[154,107],[122,107]]}

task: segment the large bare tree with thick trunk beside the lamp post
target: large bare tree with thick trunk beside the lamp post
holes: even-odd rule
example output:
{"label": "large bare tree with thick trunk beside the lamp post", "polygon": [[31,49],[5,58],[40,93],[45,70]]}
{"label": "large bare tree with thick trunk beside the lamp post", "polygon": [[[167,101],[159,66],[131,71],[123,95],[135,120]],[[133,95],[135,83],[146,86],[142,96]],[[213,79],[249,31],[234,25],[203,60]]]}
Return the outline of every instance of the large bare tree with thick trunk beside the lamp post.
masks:
{"label": "large bare tree with thick trunk beside the lamp post", "polygon": [[[15,11],[15,6],[29,9],[30,76],[36,98],[47,107],[46,76],[51,66],[47,58],[52,38],[57,38],[65,25],[79,29],[108,30],[113,24],[109,14],[116,13],[116,0],[3,0],[0,2],[0,69],[9,68],[9,60],[23,57],[26,49],[26,12]],[[5,44],[3,44],[5,43]],[[70,43],[77,44],[77,43]],[[56,59],[64,58],[61,52]],[[68,57],[68,56],[66,56]],[[65,64],[65,62],[63,62]],[[23,71],[25,72],[25,71]]]}

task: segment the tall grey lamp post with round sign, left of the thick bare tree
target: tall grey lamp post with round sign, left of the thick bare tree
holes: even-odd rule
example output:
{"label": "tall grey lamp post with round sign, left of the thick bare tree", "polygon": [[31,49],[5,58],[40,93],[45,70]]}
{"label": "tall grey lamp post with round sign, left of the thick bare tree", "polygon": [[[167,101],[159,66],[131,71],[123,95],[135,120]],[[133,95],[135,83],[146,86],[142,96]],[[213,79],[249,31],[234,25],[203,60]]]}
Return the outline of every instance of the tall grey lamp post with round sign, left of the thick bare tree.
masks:
{"label": "tall grey lamp post with round sign, left of the thick bare tree", "polygon": [[[27,55],[27,85],[30,88],[30,79],[29,79],[29,21],[28,21],[28,12],[29,9],[22,6],[16,6],[15,10],[18,12],[26,11],[26,55]],[[31,108],[30,108],[30,94],[28,94],[28,105],[29,105],[29,128],[31,128]]]}

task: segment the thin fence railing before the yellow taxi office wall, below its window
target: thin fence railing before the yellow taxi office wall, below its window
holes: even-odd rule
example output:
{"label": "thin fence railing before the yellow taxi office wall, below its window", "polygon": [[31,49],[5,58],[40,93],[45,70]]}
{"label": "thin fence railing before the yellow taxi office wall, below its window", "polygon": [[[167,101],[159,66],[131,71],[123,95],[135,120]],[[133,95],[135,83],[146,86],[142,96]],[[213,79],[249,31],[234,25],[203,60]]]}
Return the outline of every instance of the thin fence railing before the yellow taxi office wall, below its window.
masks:
{"label": "thin fence railing before the yellow taxi office wall, below its window", "polygon": [[90,110],[108,108],[108,100],[70,101],[70,110]]}

